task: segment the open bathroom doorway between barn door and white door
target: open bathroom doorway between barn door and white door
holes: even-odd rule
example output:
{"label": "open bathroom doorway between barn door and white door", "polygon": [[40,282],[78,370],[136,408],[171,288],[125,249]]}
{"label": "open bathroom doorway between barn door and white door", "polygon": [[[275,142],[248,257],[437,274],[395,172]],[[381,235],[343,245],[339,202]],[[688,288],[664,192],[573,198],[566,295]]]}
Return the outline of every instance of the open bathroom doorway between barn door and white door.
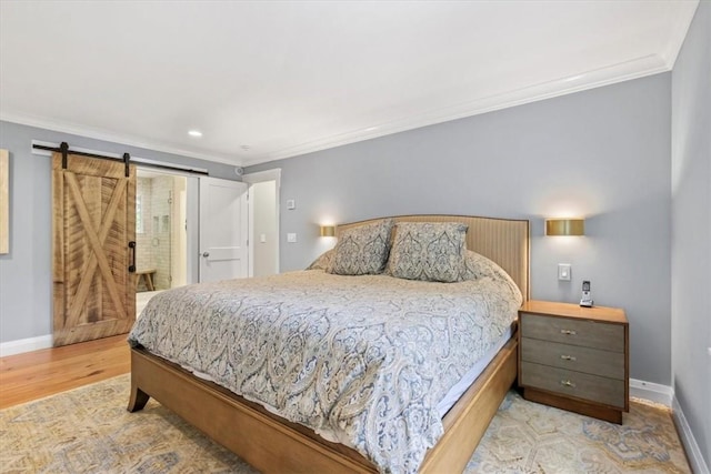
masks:
{"label": "open bathroom doorway between barn door and white door", "polygon": [[157,293],[188,284],[188,179],[138,169],[136,182],[136,311]]}

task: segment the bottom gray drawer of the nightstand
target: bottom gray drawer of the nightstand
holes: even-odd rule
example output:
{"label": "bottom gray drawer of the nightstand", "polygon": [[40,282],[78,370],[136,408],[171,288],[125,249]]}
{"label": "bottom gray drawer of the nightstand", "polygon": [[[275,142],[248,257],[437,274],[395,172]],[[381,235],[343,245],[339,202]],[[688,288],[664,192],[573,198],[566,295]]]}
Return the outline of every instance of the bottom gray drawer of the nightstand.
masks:
{"label": "bottom gray drawer of the nightstand", "polygon": [[548,365],[521,363],[521,383],[560,395],[625,407],[624,381],[583,374]]}

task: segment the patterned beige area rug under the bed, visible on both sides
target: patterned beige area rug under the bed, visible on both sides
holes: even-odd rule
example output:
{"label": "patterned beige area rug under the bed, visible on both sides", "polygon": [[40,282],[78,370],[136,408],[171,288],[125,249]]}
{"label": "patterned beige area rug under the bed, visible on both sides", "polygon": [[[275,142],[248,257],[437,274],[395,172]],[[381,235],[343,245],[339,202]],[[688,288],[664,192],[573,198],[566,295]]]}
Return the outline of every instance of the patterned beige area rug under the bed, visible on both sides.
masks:
{"label": "patterned beige area rug under the bed, visible on both sides", "polygon": [[[159,403],[128,413],[121,375],[0,411],[2,473],[253,473]],[[632,403],[619,426],[509,392],[469,473],[690,473],[670,412]]]}

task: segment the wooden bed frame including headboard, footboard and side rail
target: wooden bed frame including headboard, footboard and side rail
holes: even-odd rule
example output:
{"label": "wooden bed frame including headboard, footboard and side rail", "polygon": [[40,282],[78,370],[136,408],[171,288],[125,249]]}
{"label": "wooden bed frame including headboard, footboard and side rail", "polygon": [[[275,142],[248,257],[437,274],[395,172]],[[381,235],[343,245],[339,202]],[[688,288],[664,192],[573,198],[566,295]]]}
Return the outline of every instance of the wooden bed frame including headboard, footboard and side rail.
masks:
{"label": "wooden bed frame including headboard, footboard and side rail", "polygon": [[[408,215],[395,221],[463,222],[467,245],[499,263],[529,297],[529,222],[453,215]],[[339,231],[363,221],[339,226]],[[450,409],[444,434],[427,454],[421,473],[462,472],[507,391],[517,377],[517,335]],[[377,472],[360,453],[269,413],[257,403],[198,379],[144,349],[131,350],[131,395],[136,412],[153,397],[264,473]]]}

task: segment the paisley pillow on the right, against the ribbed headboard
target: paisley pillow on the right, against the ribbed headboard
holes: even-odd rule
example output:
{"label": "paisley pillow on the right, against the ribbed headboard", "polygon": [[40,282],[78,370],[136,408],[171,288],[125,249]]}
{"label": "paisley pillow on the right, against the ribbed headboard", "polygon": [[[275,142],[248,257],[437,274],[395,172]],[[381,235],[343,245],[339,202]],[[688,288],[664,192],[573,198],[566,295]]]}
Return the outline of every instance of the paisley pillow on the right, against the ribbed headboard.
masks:
{"label": "paisley pillow on the right, against the ribbed headboard", "polygon": [[462,281],[467,228],[457,222],[399,222],[387,273],[408,280]]}

